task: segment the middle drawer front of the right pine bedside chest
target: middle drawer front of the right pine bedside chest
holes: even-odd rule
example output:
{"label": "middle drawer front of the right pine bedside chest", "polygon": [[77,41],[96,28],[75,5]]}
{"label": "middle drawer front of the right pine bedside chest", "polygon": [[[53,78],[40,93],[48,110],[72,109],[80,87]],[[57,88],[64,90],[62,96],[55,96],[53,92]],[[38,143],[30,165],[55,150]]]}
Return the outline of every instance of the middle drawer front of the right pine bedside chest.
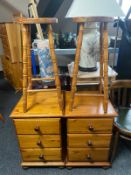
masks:
{"label": "middle drawer front of the right pine bedside chest", "polygon": [[111,134],[68,134],[67,143],[70,148],[108,148]]}

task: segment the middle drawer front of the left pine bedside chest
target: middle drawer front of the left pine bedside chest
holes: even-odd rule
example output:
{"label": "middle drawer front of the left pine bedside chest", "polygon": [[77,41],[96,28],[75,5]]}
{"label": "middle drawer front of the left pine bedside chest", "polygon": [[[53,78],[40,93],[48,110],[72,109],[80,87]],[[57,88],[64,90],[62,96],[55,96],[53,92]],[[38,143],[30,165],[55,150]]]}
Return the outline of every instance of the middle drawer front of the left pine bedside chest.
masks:
{"label": "middle drawer front of the left pine bedside chest", "polygon": [[18,135],[20,148],[60,148],[60,135]]}

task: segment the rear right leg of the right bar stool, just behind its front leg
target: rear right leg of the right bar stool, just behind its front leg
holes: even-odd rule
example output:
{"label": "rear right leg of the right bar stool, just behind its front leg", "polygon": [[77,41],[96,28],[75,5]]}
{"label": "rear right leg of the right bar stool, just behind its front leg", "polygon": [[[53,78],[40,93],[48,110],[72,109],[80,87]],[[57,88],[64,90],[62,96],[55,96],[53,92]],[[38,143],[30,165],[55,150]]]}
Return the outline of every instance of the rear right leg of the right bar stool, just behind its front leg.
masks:
{"label": "rear right leg of the right bar stool, just behind its front leg", "polygon": [[103,22],[100,23],[100,94],[103,91]]}

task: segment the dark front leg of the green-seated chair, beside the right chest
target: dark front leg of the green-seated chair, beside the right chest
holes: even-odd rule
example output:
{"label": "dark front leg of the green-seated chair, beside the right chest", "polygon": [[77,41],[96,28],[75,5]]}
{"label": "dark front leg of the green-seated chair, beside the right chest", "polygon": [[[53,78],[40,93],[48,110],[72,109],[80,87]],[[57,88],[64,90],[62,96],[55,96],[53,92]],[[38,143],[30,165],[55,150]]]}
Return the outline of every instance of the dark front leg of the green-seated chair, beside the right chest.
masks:
{"label": "dark front leg of the green-seated chair, beside the right chest", "polygon": [[119,131],[115,131],[115,135],[114,135],[114,139],[113,139],[113,149],[112,149],[111,162],[113,162],[113,160],[115,159],[115,156],[116,156],[119,137],[120,137]]}

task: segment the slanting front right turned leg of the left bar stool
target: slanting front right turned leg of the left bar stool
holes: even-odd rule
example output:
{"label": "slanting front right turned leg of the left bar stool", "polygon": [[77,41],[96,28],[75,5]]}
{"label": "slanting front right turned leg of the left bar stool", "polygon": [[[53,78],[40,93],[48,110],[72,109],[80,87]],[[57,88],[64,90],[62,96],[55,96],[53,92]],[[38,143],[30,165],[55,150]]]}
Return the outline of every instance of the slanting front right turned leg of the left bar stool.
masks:
{"label": "slanting front right turned leg of the left bar stool", "polygon": [[56,84],[57,95],[58,95],[58,102],[59,102],[60,109],[63,110],[61,84],[60,84],[58,65],[57,65],[57,60],[56,60],[56,55],[54,50],[54,39],[53,39],[51,24],[48,25],[48,37],[49,37],[50,55],[53,63],[53,70],[54,70],[54,76],[55,76],[55,84]]}

